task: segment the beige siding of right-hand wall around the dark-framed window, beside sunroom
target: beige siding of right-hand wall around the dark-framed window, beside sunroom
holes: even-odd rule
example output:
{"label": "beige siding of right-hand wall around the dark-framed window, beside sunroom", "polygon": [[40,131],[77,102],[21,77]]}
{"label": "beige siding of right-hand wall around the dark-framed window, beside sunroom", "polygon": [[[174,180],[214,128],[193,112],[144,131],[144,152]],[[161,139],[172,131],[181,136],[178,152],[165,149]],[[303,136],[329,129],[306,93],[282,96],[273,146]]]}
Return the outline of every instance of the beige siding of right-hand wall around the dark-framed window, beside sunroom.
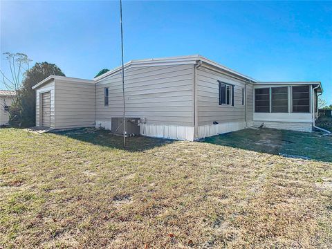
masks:
{"label": "beige siding of right-hand wall around the dark-framed window, beside sunroom", "polygon": [[[219,82],[234,85],[234,107],[232,105],[219,105]],[[212,124],[214,121],[244,122],[245,106],[242,105],[242,89],[245,82],[237,80],[223,73],[201,66],[197,71],[197,100],[199,125]],[[250,90],[251,89],[251,90]],[[252,86],[248,86],[248,109],[252,111]],[[250,117],[250,113],[248,113]],[[251,118],[252,119],[252,118]]]}

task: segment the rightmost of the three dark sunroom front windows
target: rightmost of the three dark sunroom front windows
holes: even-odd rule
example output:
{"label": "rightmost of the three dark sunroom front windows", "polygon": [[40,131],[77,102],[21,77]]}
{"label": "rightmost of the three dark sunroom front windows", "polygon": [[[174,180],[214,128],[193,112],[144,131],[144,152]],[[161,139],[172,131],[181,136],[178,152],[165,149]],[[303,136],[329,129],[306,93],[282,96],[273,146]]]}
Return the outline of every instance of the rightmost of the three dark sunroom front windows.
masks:
{"label": "rightmost of the three dark sunroom front windows", "polygon": [[293,112],[310,113],[309,86],[292,86]]}

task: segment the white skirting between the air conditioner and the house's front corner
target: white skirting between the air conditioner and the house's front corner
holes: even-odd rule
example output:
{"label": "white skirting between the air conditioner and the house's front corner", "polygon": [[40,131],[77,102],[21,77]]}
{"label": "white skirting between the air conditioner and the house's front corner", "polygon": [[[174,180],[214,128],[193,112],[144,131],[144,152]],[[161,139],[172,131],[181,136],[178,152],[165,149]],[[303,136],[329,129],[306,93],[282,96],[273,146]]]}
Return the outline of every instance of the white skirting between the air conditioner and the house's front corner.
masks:
{"label": "white skirting between the air conditioner and the house's front corner", "polygon": [[167,124],[140,124],[140,134],[154,138],[194,140],[194,127]]}

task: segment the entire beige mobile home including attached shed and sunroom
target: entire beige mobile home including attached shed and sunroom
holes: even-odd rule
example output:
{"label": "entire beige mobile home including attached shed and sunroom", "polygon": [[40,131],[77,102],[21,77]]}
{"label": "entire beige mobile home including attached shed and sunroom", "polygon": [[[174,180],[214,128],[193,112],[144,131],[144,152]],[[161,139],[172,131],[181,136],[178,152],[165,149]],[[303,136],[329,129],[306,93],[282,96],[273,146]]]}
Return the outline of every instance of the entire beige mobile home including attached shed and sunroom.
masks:
{"label": "entire beige mobile home including attached shed and sunroom", "polygon": [[[320,82],[258,82],[200,55],[124,65],[125,113],[140,134],[195,140],[246,127],[312,131]],[[36,90],[36,125],[120,127],[121,68],[94,80],[50,76]],[[117,131],[118,129],[116,129]]]}

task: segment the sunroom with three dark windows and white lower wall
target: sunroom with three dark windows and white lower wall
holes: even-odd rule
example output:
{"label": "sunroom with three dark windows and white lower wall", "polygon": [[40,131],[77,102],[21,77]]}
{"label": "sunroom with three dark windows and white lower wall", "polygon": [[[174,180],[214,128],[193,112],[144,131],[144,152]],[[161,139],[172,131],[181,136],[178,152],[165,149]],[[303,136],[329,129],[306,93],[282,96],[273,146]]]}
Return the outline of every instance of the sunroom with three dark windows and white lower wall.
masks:
{"label": "sunroom with three dark windows and white lower wall", "polygon": [[254,86],[254,125],[312,131],[320,82],[258,82]]}

